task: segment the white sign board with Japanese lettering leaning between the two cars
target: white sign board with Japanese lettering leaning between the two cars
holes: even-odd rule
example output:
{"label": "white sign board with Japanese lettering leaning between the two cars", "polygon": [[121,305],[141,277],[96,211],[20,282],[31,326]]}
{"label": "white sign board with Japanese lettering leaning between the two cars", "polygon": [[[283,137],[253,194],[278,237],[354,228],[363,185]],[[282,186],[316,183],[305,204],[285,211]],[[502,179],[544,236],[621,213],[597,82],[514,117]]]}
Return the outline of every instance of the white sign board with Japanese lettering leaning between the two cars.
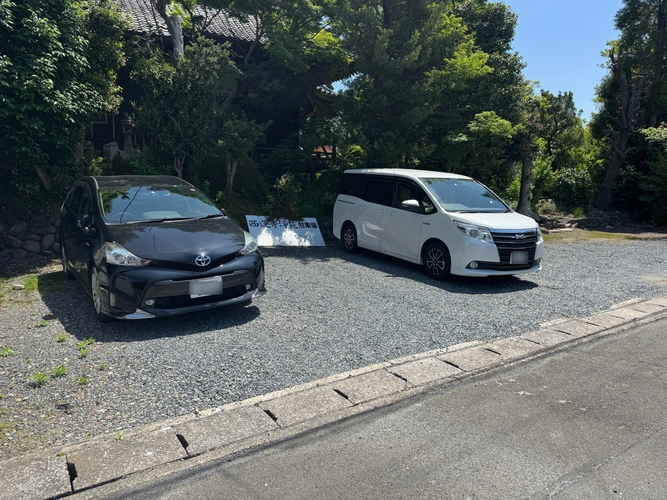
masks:
{"label": "white sign board with Japanese lettering leaning between the two cars", "polygon": [[246,215],[248,230],[260,247],[323,247],[324,238],[314,217],[300,221],[268,219],[263,215]]}

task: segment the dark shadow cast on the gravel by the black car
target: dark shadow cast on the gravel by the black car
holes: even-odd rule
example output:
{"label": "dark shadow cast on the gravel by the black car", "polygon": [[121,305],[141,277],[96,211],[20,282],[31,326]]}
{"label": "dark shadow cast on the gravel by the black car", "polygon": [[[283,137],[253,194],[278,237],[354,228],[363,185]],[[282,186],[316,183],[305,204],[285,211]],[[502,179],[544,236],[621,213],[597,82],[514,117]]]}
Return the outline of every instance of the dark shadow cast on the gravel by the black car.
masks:
{"label": "dark shadow cast on the gravel by the black car", "polygon": [[97,341],[107,342],[141,342],[211,330],[225,330],[250,323],[260,315],[259,308],[250,304],[167,318],[100,323],[95,318],[90,297],[78,285],[43,294],[42,300],[51,311],[51,314],[44,316],[44,319],[60,320],[65,331],[79,340],[93,337]]}

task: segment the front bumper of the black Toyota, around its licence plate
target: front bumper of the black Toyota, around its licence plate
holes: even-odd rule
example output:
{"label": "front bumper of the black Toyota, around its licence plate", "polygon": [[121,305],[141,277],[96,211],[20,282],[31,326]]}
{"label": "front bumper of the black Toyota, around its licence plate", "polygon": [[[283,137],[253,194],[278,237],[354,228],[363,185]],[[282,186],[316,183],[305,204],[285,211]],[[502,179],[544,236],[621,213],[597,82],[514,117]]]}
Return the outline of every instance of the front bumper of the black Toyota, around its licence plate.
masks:
{"label": "front bumper of the black Toyota, around its licence plate", "polygon": [[[258,252],[202,272],[159,266],[129,269],[106,266],[101,274],[100,282],[108,294],[109,306],[104,312],[119,319],[200,311],[248,302],[266,293],[264,260]],[[211,277],[222,279],[222,295],[191,298],[190,282]]]}

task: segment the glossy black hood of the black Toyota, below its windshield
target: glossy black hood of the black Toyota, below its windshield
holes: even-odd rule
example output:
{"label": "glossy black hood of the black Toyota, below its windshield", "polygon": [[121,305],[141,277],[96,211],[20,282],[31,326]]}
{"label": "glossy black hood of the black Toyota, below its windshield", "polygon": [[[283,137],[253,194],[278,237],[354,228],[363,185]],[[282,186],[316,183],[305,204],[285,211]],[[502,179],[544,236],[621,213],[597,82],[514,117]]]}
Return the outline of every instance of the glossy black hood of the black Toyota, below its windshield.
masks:
{"label": "glossy black hood of the black Toyota, below its windshield", "polygon": [[212,259],[245,246],[245,236],[232,219],[183,220],[107,226],[112,241],[145,259],[191,262],[205,253]]}

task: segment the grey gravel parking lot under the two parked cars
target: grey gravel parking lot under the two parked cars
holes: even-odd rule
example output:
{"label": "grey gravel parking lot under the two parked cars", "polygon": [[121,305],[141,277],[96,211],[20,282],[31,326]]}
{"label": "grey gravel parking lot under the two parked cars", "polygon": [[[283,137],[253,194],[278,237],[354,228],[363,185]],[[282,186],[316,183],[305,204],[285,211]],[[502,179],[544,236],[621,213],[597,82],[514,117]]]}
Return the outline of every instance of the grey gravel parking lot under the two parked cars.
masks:
{"label": "grey gravel parking lot under the two parked cars", "polygon": [[[78,284],[11,292],[0,307],[0,347],[11,349],[0,357],[0,459],[407,354],[517,335],[667,288],[665,240],[548,244],[540,274],[444,283],[412,264],[350,256],[336,245],[263,254],[264,298],[174,318],[102,325]],[[82,357],[76,344],[90,338]],[[57,366],[67,374],[53,376]],[[35,372],[51,377],[33,387]]]}

